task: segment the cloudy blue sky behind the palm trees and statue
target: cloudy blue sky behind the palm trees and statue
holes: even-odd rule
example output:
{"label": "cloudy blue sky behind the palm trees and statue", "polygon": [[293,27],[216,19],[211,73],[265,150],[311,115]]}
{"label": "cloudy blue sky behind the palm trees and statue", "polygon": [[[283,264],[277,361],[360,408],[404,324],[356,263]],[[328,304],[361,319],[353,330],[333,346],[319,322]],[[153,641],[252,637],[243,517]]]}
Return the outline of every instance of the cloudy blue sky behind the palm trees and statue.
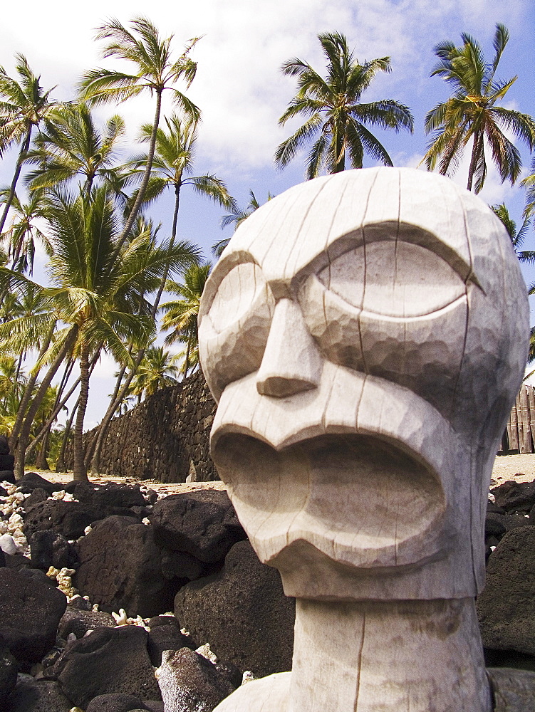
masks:
{"label": "cloudy blue sky behind the palm trees and statue", "polygon": [[[535,115],[535,3],[533,0],[197,0],[196,3],[93,0],[74,4],[65,0],[42,3],[29,0],[2,9],[0,64],[12,73],[13,55],[22,52],[43,85],[57,85],[56,98],[73,98],[73,86],[80,75],[94,66],[112,66],[100,59],[100,47],[93,41],[95,26],[116,16],[123,23],[146,14],[163,36],[175,35],[177,53],[187,39],[203,35],[193,57],[198,61],[197,77],[188,95],[202,109],[203,122],[197,144],[195,174],[215,173],[222,178],[240,205],[253,189],[264,202],[268,192],[279,194],[303,180],[303,157],[284,172],[274,168],[276,146],[297,126],[281,128],[277,119],[294,93],[295,80],[283,77],[281,63],[298,56],[317,70],[323,70],[318,33],[345,33],[355,56],[365,59],[390,56],[392,73],[378,75],[363,100],[393,98],[407,104],[415,116],[415,132],[383,132],[380,139],[396,165],[417,166],[425,152],[425,114],[448,96],[440,78],[430,78],[435,63],[433,47],[440,41],[460,43],[460,33],[472,34],[492,57],[492,36],[497,22],[511,33],[498,75],[519,75],[509,90],[505,106]],[[170,106],[166,106],[170,112]],[[128,125],[123,143],[125,158],[137,152],[137,128],[152,119],[150,99],[137,99],[119,108],[99,109],[104,118],[119,112]],[[518,145],[529,169],[529,152]],[[467,152],[467,157],[469,152]],[[11,178],[12,157],[0,164],[0,183]],[[373,162],[365,162],[366,166]],[[454,177],[466,182],[467,160]],[[502,185],[494,168],[481,197],[489,203],[505,201],[511,214],[520,220],[524,193],[519,187]],[[179,234],[204,248],[232,229],[222,232],[219,220],[224,211],[192,192],[182,194]],[[162,222],[162,233],[170,226],[172,196],[161,199],[151,210]],[[528,248],[535,244],[529,234]],[[526,281],[535,275],[524,271]],[[112,389],[114,365],[103,359],[91,383],[87,425],[98,422]]]}

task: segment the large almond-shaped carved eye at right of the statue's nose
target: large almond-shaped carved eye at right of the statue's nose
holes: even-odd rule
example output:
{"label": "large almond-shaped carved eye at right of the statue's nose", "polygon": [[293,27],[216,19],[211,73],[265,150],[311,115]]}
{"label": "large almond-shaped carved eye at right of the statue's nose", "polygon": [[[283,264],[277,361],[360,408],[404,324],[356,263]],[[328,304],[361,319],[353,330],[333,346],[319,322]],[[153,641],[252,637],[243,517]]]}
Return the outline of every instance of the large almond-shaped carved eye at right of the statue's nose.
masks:
{"label": "large almond-shaped carved eye at right of the statue's nose", "polygon": [[353,307],[393,317],[430,314],[465,291],[442,257],[401,240],[376,241],[346,252],[323,268],[318,279]]}

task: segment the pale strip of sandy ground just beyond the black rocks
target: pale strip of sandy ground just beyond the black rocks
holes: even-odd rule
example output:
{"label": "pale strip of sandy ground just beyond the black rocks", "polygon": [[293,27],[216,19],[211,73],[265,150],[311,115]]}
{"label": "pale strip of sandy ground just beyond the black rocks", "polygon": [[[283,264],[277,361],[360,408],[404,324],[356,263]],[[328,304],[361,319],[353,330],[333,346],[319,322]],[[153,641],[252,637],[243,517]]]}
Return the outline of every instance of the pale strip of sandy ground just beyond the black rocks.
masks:
{"label": "pale strip of sandy ground just beyond the black rocks", "polygon": [[[72,473],[57,473],[50,471],[39,471],[39,473],[49,481],[66,483],[72,480]],[[507,480],[517,482],[531,482],[535,480],[535,454],[529,455],[502,455],[494,461],[492,470],[491,486],[496,486]],[[103,484],[105,482],[121,482],[124,484],[135,484],[135,479],[130,477],[90,477],[91,482]],[[140,484],[154,489],[158,493],[177,494],[179,492],[193,492],[202,489],[224,489],[224,483],[217,482],[185,482],[185,483],[162,483],[155,480],[142,480]]]}

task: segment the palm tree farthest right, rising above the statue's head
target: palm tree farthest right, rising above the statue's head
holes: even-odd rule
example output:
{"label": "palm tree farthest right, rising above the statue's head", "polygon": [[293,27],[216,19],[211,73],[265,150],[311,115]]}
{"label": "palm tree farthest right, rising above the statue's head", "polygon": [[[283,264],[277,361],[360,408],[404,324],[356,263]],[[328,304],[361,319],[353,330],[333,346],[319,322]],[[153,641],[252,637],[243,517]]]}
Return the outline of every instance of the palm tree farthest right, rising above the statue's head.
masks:
{"label": "palm tree farthest right, rising above the statue's head", "polygon": [[524,141],[529,150],[535,146],[535,121],[531,116],[514,109],[498,106],[516,81],[495,78],[509,31],[497,24],[494,33],[494,58],[485,62],[482,48],[469,34],[462,33],[462,46],[442,42],[435,47],[439,58],[431,76],[440,76],[453,88],[453,95],[437,104],[425,117],[425,132],[433,137],[422,159],[428,170],[439,168],[442,175],[455,172],[464,147],[472,140],[472,155],[468,169],[467,189],[479,193],[487,177],[485,143],[490,147],[502,183],[511,185],[519,177],[519,150],[503,130]]}

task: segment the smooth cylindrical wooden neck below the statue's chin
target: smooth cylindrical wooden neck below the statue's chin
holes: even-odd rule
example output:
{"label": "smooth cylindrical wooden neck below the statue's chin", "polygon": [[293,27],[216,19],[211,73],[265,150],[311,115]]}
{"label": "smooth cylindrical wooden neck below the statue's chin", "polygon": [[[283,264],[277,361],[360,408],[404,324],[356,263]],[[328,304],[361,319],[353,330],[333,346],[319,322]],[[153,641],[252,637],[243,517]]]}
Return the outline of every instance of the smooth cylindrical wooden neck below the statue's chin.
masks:
{"label": "smooth cylindrical wooden neck below the statue's chin", "polygon": [[296,600],[288,712],[490,712],[474,601]]}

